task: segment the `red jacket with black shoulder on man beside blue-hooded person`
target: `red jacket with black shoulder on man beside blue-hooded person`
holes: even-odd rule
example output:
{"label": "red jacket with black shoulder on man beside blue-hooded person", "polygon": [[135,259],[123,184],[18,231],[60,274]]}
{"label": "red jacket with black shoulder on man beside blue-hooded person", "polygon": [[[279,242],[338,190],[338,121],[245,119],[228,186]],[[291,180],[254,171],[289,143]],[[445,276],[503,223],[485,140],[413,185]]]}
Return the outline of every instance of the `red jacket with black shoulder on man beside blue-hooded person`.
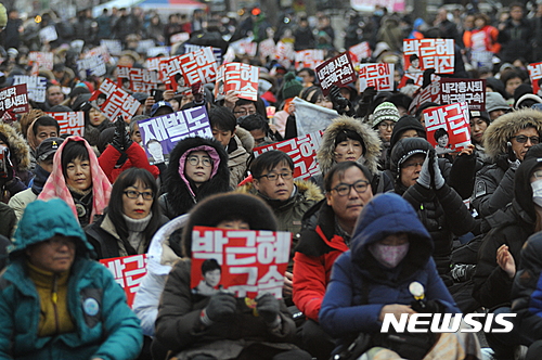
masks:
{"label": "red jacket with black shoulder on man beside blue-hooded person", "polygon": [[336,234],[335,214],[325,200],[314,217],[317,223],[301,231],[296,247],[293,299],[307,318],[318,321],[333,263],[348,245]]}

